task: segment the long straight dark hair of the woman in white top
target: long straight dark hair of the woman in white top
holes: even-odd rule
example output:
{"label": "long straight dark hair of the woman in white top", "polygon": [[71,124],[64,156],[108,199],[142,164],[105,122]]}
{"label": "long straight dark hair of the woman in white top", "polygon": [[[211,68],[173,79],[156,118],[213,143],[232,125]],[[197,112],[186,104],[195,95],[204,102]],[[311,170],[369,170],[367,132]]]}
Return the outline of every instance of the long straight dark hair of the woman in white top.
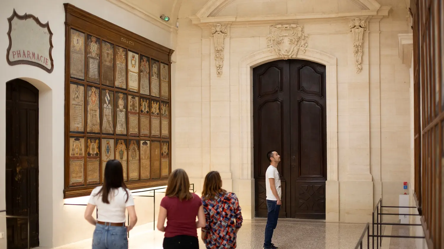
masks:
{"label": "long straight dark hair of the woman in white top", "polygon": [[108,195],[111,192],[111,188],[120,188],[122,187],[123,190],[127,193],[127,200],[128,201],[128,191],[127,186],[125,185],[125,182],[123,182],[123,168],[122,164],[118,160],[109,160],[107,161],[107,164],[105,165],[105,176],[103,180],[103,186],[100,188],[99,192],[95,194],[95,196],[102,193],[102,202],[109,204],[109,198]]}

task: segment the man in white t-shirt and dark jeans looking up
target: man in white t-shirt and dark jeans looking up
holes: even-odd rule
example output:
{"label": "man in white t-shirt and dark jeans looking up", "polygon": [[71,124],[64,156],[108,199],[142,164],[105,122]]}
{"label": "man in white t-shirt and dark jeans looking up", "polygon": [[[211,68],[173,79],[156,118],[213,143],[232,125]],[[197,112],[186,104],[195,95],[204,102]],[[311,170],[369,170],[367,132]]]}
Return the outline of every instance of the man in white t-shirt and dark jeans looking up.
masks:
{"label": "man in white t-shirt and dark jeans looking up", "polygon": [[277,172],[277,164],[281,161],[281,156],[276,151],[269,151],[267,153],[268,166],[265,172],[265,187],[267,190],[267,225],[265,227],[265,241],[264,249],[277,249],[271,238],[273,237],[273,231],[276,229],[277,217],[279,210],[281,209],[281,178],[279,178],[279,172]]}

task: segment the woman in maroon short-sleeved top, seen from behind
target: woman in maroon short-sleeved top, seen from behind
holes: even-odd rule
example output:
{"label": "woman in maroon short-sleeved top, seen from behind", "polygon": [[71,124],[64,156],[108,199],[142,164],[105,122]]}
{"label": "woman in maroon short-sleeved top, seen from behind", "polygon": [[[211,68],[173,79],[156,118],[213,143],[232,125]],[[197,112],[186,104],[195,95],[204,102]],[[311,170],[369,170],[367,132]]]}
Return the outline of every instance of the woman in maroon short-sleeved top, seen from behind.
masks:
{"label": "woman in maroon short-sleeved top, seen from behind", "polygon": [[197,229],[205,224],[202,200],[190,193],[188,175],[183,169],[174,170],[168,179],[165,197],[160,202],[157,221],[157,229],[165,232],[163,248],[198,249]]}

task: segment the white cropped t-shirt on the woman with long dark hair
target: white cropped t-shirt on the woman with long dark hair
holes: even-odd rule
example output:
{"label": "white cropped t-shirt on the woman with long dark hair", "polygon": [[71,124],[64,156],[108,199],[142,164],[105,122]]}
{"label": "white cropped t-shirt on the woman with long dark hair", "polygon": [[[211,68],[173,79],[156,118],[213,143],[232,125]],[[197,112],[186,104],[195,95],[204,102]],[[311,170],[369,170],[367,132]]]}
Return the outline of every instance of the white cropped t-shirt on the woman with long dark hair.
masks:
{"label": "white cropped t-shirt on the woman with long dark hair", "polygon": [[[95,188],[90,195],[88,203],[97,206],[97,220],[102,222],[125,222],[125,209],[129,206],[134,206],[134,199],[129,189],[128,201],[127,193],[123,188],[111,188],[108,200],[109,204],[102,202],[102,193],[96,195],[102,186]],[[96,195],[96,196],[95,196]]]}

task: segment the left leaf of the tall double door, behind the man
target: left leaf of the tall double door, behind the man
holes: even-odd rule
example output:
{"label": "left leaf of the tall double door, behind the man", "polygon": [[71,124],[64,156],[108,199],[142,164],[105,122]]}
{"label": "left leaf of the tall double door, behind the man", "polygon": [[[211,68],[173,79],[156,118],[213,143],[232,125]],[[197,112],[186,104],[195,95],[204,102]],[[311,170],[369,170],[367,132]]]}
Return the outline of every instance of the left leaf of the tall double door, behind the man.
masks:
{"label": "left leaf of the tall double door, behind the man", "polygon": [[[270,166],[267,152],[276,150],[281,155],[277,170],[281,176],[282,207],[279,217],[285,218],[290,210],[290,141],[289,141],[289,64],[273,61],[254,69],[254,179],[255,214],[267,216],[265,172]],[[287,178],[288,177],[288,178]]]}

